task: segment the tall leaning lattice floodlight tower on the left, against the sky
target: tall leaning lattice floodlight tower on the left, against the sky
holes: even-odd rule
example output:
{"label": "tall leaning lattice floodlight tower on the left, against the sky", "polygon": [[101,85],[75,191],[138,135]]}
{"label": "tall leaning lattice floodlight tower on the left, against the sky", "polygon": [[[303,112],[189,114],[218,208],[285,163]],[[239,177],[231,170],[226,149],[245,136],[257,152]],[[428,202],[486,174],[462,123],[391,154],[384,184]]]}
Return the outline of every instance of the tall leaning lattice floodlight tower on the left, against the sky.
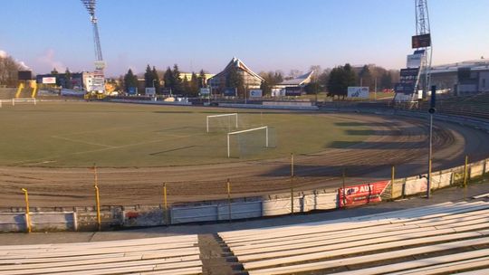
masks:
{"label": "tall leaning lattice floodlight tower on the left, against the sky", "polygon": [[101,53],[101,37],[99,35],[99,26],[97,24],[97,16],[95,16],[95,5],[97,0],[82,0],[83,5],[90,14],[91,26],[93,29],[93,44],[95,48],[95,71],[93,72],[92,85],[87,87],[87,91],[91,93],[103,94],[105,92],[105,62]]}

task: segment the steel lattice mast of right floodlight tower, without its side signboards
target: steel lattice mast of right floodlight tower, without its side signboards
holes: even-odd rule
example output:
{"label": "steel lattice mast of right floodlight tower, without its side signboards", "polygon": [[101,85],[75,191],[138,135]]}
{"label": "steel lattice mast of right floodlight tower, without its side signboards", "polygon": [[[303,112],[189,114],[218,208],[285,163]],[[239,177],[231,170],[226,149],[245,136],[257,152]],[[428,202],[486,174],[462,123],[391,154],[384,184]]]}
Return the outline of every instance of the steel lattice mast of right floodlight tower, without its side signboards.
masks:
{"label": "steel lattice mast of right floodlight tower, without its side signboards", "polygon": [[[429,26],[429,14],[427,8],[427,0],[415,0],[416,7],[416,35],[417,37],[428,37],[427,43],[419,44],[421,48],[425,50],[424,59],[422,62],[422,68],[424,69],[424,81],[423,81],[423,99],[427,98],[427,90],[429,87],[429,71],[431,70],[431,56],[433,53],[433,46],[431,44],[431,32]],[[428,52],[429,48],[429,52]],[[418,48],[419,49],[419,48]]]}

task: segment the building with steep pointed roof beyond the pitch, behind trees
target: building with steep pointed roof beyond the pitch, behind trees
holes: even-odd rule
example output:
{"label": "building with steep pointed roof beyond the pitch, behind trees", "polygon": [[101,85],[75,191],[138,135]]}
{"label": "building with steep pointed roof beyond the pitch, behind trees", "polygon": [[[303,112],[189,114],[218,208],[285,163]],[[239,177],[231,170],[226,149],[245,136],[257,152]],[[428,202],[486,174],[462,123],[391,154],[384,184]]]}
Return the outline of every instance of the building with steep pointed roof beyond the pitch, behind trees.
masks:
{"label": "building with steep pointed roof beyond the pitch, behind trees", "polygon": [[229,72],[233,67],[237,69],[237,72],[243,78],[246,90],[260,89],[260,86],[262,85],[264,79],[254,71],[251,71],[244,62],[234,57],[231,62],[229,62],[225,66],[225,69],[223,71],[217,73],[214,77],[208,80],[208,83],[211,86],[212,90],[216,90],[217,92],[224,92],[227,88],[229,88],[226,87],[225,83]]}

